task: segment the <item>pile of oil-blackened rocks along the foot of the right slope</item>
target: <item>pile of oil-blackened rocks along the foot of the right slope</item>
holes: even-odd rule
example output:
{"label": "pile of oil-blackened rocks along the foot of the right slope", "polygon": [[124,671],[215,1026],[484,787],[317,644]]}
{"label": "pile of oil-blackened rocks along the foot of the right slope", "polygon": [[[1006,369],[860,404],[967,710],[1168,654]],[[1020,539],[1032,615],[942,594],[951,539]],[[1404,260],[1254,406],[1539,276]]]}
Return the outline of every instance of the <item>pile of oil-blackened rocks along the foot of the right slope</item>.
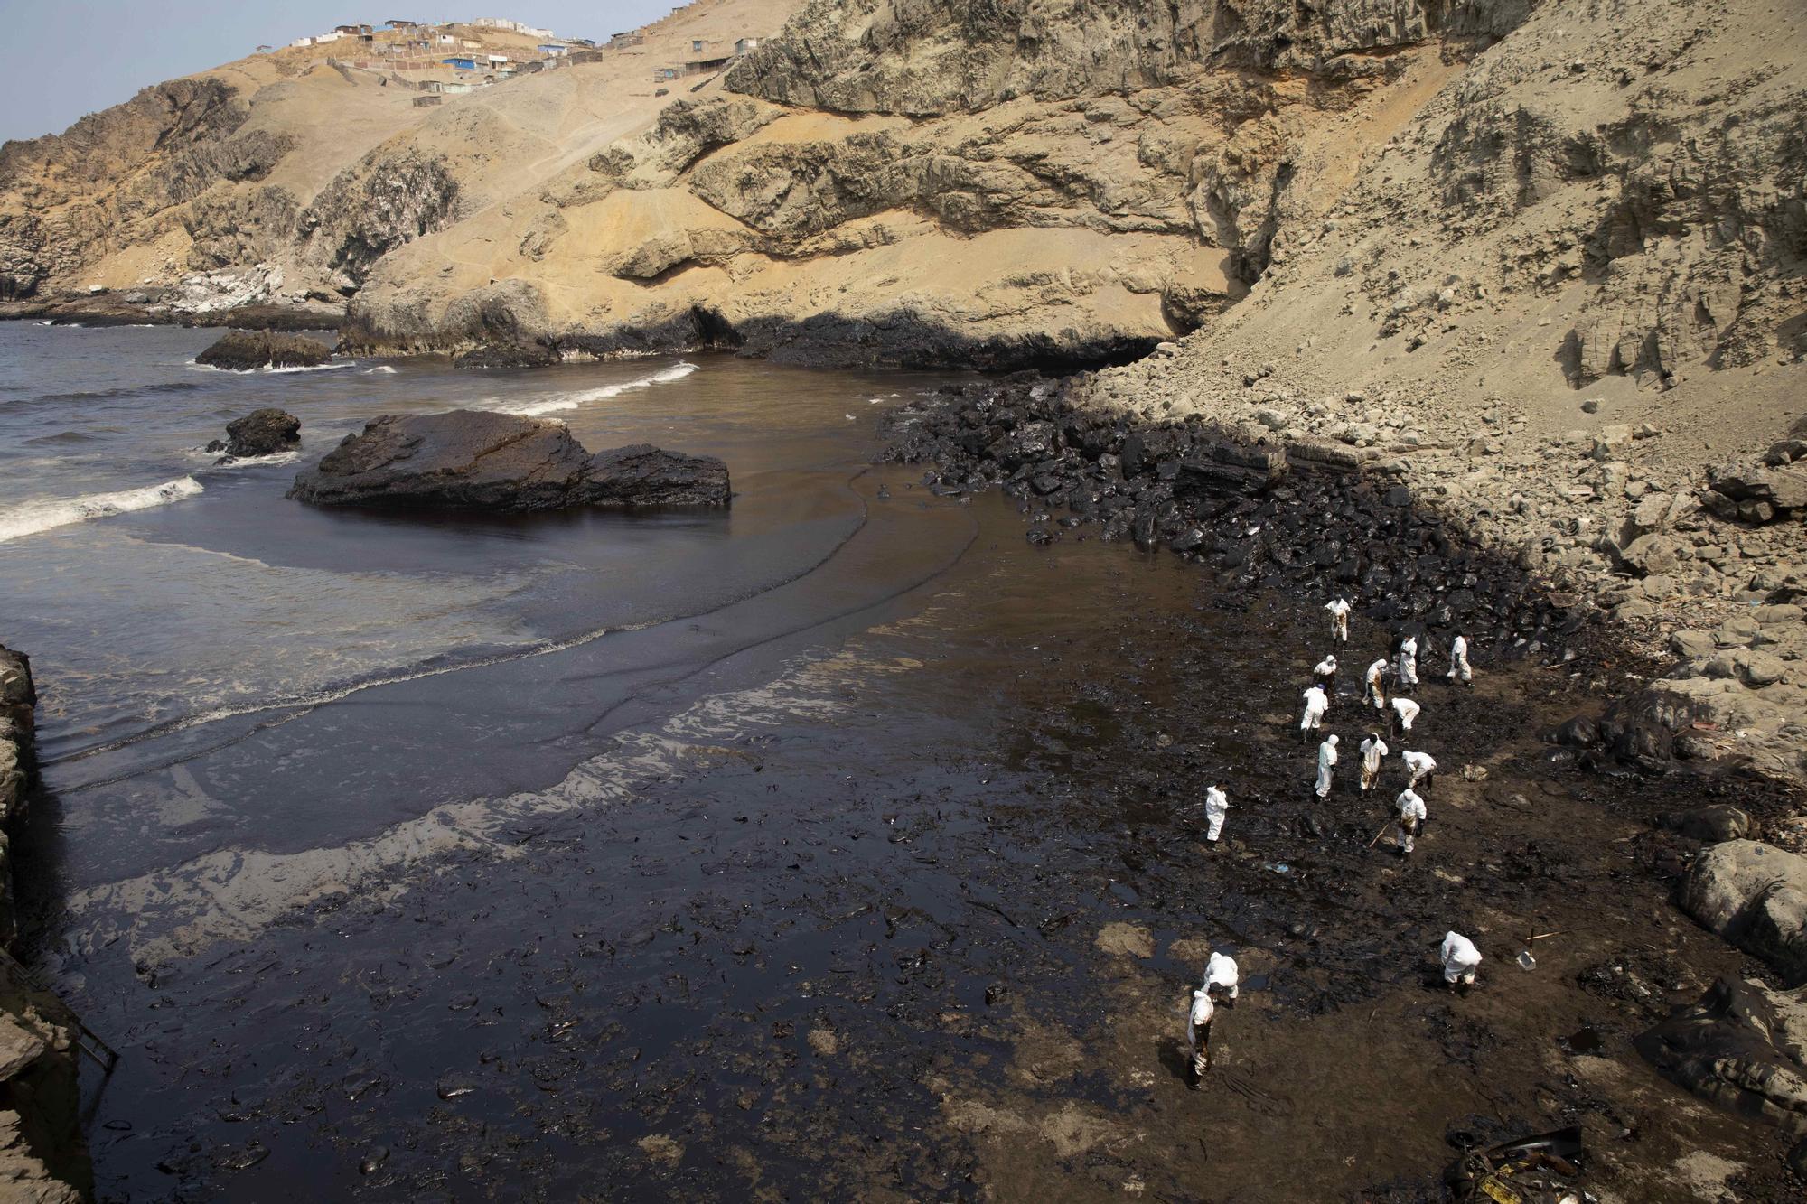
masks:
{"label": "pile of oil-blackened rocks along the foot of the right slope", "polygon": [[1538,588],[1413,504],[1395,477],[1330,448],[1247,441],[1198,416],[1135,421],[1075,407],[1059,381],[1014,376],[947,387],[887,419],[884,459],[932,465],[940,495],[1001,488],[1028,539],[1082,528],[1167,548],[1220,571],[1220,588],[1346,591],[1397,631],[1462,633],[1480,656],[1559,658],[1592,609]]}

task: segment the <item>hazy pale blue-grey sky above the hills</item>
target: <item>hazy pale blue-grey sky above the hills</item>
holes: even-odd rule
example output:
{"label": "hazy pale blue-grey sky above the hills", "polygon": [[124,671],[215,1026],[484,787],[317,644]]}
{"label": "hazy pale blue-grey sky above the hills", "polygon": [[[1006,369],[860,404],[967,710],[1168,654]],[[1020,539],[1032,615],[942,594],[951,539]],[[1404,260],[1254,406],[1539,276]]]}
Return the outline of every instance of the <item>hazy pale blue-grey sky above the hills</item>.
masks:
{"label": "hazy pale blue-grey sky above the hills", "polygon": [[[385,0],[396,4],[396,0]],[[607,38],[665,16],[679,0],[0,0],[0,141],[61,134],[150,83],[244,58],[352,22],[508,16],[566,38]]]}

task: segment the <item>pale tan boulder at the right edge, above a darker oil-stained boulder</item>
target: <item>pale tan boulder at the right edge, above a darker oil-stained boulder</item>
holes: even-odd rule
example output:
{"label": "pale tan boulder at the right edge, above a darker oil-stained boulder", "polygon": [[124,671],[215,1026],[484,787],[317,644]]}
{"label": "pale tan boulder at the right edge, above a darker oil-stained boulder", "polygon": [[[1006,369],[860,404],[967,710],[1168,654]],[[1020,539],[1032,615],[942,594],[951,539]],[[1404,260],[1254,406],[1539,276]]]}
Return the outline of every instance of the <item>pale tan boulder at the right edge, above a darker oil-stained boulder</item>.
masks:
{"label": "pale tan boulder at the right edge, above a darker oil-stained boulder", "polygon": [[1807,982],[1807,857],[1762,841],[1715,844],[1695,859],[1681,902],[1789,985]]}

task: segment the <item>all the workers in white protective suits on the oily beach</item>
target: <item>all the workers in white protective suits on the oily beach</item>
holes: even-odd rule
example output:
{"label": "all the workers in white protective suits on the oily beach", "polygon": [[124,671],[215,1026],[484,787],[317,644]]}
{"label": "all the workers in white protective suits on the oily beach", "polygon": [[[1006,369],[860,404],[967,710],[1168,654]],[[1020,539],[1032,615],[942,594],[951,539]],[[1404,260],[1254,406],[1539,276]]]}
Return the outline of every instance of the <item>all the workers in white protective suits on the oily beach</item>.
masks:
{"label": "all the workers in white protective suits on the oily beach", "polygon": [[[1348,598],[1332,598],[1325,604],[1325,609],[1330,611],[1330,642],[1346,645],[1353,604]],[[1444,676],[1451,685],[1473,685],[1475,682],[1475,671],[1469,667],[1467,658],[1467,640],[1460,635],[1449,642],[1449,671]],[[1390,682],[1395,691],[1391,700],[1386,696]],[[1393,752],[1386,739],[1397,741],[1400,745],[1399,761],[1404,768],[1406,786],[1393,799],[1391,835],[1393,848],[1400,857],[1409,855],[1417,846],[1424,821],[1429,817],[1424,795],[1431,792],[1431,781],[1437,776],[1437,759],[1429,752],[1417,752],[1404,747],[1408,739],[1418,743],[1411,736],[1411,723],[1418,718],[1418,703],[1404,698],[1399,691],[1417,685],[1418,638],[1409,633],[1395,642],[1390,656],[1375,660],[1362,674],[1361,705],[1373,707],[1377,716],[1366,739],[1361,741],[1361,794],[1366,795],[1379,786],[1382,759]],[[1330,710],[1330,700],[1335,696],[1335,691],[1337,658],[1332,653],[1312,669],[1312,683],[1305,691],[1305,712],[1299,716],[1299,743],[1310,743],[1323,729],[1325,714]],[[1381,736],[1381,727],[1386,727],[1386,738]],[[1312,792],[1319,799],[1330,797],[1330,781],[1335,767],[1337,736],[1330,732],[1317,745],[1317,781]],[[1205,841],[1216,842],[1223,835],[1223,821],[1229,810],[1229,795],[1222,785],[1212,783],[1205,790]],[[1375,841],[1384,833],[1386,830],[1382,828],[1375,835]],[[1453,991],[1467,991],[1475,983],[1475,971],[1480,967],[1480,949],[1467,936],[1446,933],[1437,956],[1444,965],[1444,983]],[[1222,1003],[1236,1000],[1236,960],[1227,953],[1214,951],[1205,964],[1203,985],[1193,991],[1193,1007],[1185,1018],[1185,1039],[1193,1050],[1194,1090],[1203,1086],[1203,1076],[1211,1068],[1211,1020]]]}

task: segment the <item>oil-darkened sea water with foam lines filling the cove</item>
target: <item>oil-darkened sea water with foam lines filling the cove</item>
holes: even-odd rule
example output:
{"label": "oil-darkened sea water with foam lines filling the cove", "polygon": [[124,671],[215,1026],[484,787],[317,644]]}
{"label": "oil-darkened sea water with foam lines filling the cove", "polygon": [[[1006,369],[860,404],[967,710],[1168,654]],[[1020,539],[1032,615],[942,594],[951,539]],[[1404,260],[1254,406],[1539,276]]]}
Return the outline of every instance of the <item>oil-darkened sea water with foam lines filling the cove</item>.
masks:
{"label": "oil-darkened sea water with foam lines filling the cove", "polygon": [[[0,324],[23,953],[123,1054],[83,1081],[99,1197],[936,1195],[967,1155],[923,1059],[1006,1058],[940,1018],[1090,996],[1028,917],[1124,908],[1081,835],[1117,803],[1048,786],[1117,732],[1075,671],[1140,680],[1124,615],[1189,615],[1198,575],[873,466],[945,376],[233,374],[192,365],[210,338]],[[264,405],[300,452],[201,450]],[[452,407],[721,456],[734,506],[284,499],[370,418]],[[842,1074],[788,1068],[815,1025]]]}

